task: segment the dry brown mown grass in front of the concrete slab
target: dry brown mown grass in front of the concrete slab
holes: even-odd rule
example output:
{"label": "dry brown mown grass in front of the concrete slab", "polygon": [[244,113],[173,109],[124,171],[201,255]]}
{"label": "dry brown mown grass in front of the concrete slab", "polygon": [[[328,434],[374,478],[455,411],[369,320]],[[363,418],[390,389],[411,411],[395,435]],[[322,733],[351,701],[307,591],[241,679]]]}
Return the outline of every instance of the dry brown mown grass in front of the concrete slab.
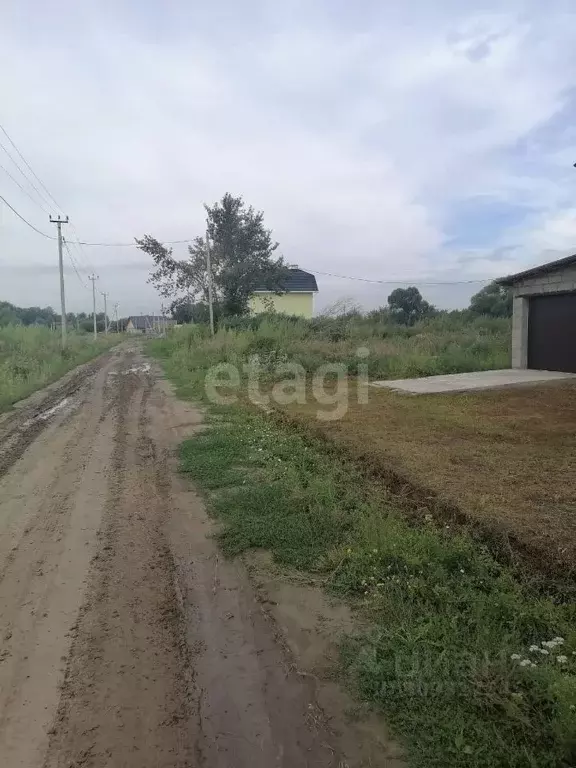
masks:
{"label": "dry brown mown grass in front of the concrete slab", "polygon": [[418,397],[371,389],[367,405],[352,395],[339,421],[312,424],[313,402],[286,410],[416,505],[446,504],[504,533],[539,569],[572,571],[576,384]]}

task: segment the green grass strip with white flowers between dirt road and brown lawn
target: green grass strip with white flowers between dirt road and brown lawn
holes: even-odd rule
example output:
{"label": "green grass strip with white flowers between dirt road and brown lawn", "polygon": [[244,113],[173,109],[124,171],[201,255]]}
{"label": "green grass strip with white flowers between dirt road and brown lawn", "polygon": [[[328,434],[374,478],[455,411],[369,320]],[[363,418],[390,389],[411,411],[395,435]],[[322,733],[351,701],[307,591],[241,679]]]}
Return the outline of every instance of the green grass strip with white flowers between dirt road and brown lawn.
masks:
{"label": "green grass strip with white flowers between dirt road and brown lawn", "polygon": [[[529,592],[465,533],[411,527],[354,465],[264,415],[228,409],[184,443],[182,467],[223,521],[227,554],[268,549],[366,612],[373,630],[345,641],[343,669],[410,765],[575,764],[573,609]],[[528,650],[554,637],[548,655]]]}

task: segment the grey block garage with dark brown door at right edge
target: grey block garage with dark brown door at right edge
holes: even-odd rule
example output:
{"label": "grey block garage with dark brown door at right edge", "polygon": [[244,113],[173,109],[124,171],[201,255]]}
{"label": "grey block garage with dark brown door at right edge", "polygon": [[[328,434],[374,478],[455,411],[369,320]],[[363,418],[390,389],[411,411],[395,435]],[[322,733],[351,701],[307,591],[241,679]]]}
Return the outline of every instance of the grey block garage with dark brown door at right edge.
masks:
{"label": "grey block garage with dark brown door at right edge", "polygon": [[576,373],[576,255],[498,282],[513,294],[512,367]]}

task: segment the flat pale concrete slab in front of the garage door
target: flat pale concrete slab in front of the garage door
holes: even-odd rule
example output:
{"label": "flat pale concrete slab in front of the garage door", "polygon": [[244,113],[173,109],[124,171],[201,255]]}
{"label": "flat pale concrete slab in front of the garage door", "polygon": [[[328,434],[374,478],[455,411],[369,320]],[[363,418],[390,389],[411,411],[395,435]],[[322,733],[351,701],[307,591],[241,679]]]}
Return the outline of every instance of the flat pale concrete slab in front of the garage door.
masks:
{"label": "flat pale concrete slab in front of the garage door", "polygon": [[576,379],[576,374],[561,373],[560,371],[533,371],[528,368],[505,368],[498,371],[425,376],[420,379],[371,381],[370,385],[372,387],[386,387],[395,392],[407,392],[412,395],[427,395],[442,392],[477,392],[482,389],[545,384],[563,379]]}

